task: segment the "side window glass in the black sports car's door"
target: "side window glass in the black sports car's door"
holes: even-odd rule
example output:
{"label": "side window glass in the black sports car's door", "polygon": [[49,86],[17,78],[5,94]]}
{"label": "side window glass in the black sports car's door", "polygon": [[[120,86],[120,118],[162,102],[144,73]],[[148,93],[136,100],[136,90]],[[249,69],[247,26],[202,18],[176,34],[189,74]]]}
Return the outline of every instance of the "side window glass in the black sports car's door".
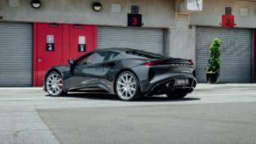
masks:
{"label": "side window glass in the black sports car's door", "polygon": [[91,65],[91,64],[97,64],[104,61],[106,57],[106,52],[94,52],[90,55],[87,55],[82,59],[81,61],[78,61],[79,65]]}

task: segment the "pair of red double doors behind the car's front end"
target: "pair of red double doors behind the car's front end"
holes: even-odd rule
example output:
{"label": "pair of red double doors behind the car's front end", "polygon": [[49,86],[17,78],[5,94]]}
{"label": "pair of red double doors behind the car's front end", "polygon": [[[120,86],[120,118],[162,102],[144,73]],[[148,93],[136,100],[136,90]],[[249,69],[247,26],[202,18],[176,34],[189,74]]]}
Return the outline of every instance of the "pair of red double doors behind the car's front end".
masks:
{"label": "pair of red double doors behind the car's front end", "polygon": [[41,86],[48,68],[96,48],[95,25],[33,25],[33,86]]}

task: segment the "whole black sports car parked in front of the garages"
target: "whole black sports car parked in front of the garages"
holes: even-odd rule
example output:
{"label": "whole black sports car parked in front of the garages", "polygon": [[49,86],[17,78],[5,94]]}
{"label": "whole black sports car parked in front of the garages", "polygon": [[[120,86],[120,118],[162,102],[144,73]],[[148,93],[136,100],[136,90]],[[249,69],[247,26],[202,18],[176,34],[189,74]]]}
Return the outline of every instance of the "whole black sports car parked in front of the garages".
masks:
{"label": "whole black sports car parked in front of the garages", "polygon": [[196,86],[191,60],[135,49],[98,49],[69,60],[69,66],[50,68],[44,90],[61,96],[73,90],[106,90],[121,100],[166,94],[182,98]]}

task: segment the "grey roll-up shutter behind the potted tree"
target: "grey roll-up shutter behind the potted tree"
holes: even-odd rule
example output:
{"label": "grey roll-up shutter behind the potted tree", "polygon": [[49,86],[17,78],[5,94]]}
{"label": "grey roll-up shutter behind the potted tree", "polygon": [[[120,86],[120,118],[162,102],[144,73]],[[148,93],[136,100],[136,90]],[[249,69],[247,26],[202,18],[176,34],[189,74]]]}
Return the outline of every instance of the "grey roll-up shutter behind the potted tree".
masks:
{"label": "grey roll-up shutter behind the potted tree", "polygon": [[198,81],[206,82],[208,48],[215,37],[222,40],[220,83],[252,83],[252,30],[240,28],[196,28]]}

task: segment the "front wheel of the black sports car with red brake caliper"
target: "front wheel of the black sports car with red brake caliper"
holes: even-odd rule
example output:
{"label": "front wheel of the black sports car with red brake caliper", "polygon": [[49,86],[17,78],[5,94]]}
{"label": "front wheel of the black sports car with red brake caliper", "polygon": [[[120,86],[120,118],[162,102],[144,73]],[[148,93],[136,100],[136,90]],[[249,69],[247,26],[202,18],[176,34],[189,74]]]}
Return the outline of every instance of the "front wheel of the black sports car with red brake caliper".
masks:
{"label": "front wheel of the black sports car with red brake caliper", "polygon": [[45,89],[49,96],[64,96],[67,93],[63,91],[63,78],[56,71],[52,71],[45,79]]}

